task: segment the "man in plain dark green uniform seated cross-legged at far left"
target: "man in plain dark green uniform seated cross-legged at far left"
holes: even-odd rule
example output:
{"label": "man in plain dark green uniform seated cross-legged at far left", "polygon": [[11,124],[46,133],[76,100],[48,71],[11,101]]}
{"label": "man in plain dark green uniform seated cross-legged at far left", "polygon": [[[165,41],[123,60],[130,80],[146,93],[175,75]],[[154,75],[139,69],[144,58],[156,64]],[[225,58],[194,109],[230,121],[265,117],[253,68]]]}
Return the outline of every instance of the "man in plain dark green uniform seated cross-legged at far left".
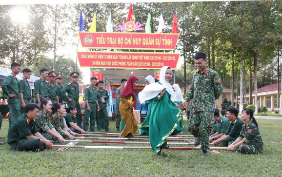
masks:
{"label": "man in plain dark green uniform seated cross-legged at far left", "polygon": [[28,103],[25,106],[25,114],[16,119],[8,131],[8,141],[12,150],[16,151],[43,151],[52,148],[50,136],[43,136],[37,131],[35,120],[39,112],[39,106]]}

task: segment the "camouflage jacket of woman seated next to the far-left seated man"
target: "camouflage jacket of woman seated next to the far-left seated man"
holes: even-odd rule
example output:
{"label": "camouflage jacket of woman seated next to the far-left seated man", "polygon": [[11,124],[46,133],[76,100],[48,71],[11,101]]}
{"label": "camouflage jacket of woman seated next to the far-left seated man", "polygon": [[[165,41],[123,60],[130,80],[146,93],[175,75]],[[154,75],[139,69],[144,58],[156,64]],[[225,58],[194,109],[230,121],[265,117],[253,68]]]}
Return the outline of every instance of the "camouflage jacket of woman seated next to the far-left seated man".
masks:
{"label": "camouflage jacket of woman seated next to the far-left seated man", "polygon": [[39,133],[45,133],[46,130],[54,128],[50,121],[50,114],[51,112],[44,113],[43,110],[38,112],[37,119],[35,120],[36,127]]}

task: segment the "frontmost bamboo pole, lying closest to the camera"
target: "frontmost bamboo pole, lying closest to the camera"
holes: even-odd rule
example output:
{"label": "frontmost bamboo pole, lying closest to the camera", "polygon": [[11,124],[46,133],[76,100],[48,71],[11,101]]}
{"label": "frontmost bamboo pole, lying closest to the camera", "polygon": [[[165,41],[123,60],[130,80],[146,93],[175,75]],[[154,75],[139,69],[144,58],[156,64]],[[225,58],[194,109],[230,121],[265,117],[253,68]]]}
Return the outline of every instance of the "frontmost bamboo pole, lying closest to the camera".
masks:
{"label": "frontmost bamboo pole, lying closest to the camera", "polygon": [[[152,149],[150,146],[69,146],[53,145],[53,147],[90,148],[90,149]],[[201,150],[200,147],[169,147],[169,150]],[[210,147],[211,150],[227,150],[227,147]]]}

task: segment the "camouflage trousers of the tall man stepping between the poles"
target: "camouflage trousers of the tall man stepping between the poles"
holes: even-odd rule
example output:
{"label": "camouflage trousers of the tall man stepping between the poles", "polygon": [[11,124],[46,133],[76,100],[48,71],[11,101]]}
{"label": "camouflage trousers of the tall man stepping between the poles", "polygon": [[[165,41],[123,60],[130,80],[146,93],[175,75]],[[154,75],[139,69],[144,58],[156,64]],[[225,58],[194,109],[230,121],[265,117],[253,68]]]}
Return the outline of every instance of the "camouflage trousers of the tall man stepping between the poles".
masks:
{"label": "camouflage trousers of the tall man stepping between the poles", "polygon": [[202,150],[208,151],[209,134],[214,125],[213,112],[190,112],[188,128],[191,133],[201,142]]}

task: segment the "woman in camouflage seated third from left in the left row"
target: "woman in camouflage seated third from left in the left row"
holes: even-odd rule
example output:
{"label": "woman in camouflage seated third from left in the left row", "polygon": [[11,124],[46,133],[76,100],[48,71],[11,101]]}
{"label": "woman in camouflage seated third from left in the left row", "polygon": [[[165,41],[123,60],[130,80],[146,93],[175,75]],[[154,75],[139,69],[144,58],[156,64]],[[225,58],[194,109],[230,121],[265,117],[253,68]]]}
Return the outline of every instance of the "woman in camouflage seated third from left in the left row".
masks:
{"label": "woman in camouflage seated third from left in the left row", "polygon": [[65,139],[74,139],[72,134],[76,134],[65,128],[64,116],[67,115],[67,111],[62,103],[58,103],[55,106],[55,112],[51,117],[51,123],[54,125],[55,129],[59,134],[61,134]]}

